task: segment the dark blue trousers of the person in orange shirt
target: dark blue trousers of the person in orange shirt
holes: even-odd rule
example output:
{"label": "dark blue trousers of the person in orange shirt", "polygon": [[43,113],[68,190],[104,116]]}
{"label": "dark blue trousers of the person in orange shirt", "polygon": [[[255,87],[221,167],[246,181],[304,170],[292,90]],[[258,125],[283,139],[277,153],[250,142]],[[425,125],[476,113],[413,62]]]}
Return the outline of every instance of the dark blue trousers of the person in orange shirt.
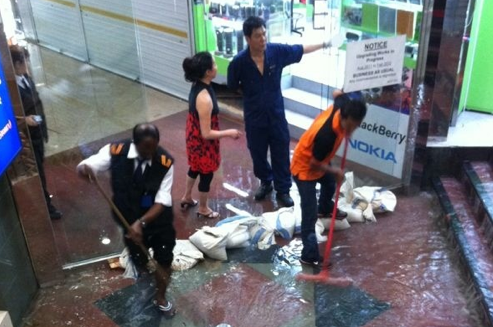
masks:
{"label": "dark blue trousers of the person in orange shirt", "polygon": [[[302,181],[296,176],[293,177],[301,199],[301,240],[303,250],[301,259],[304,261],[319,261],[317,236],[315,225],[317,223],[317,213],[327,215],[334,209],[334,196],[336,182],[331,174],[325,174],[322,178],[313,181]],[[317,206],[317,183],[320,184],[320,197]]]}

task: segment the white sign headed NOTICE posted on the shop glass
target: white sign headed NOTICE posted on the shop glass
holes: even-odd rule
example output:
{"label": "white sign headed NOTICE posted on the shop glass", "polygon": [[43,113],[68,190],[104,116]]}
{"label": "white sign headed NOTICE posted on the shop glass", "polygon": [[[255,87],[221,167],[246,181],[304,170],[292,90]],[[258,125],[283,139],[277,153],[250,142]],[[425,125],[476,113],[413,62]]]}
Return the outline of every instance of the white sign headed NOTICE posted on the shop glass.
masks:
{"label": "white sign headed NOTICE posted on the shop glass", "polygon": [[405,35],[348,43],[344,91],[402,83],[405,44]]}

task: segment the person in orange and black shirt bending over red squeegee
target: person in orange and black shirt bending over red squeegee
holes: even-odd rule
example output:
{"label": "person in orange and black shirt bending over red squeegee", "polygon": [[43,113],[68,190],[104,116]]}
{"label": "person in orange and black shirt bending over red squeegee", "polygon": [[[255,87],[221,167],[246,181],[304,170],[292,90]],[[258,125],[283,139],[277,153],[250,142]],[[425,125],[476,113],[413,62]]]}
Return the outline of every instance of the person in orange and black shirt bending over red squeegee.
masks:
{"label": "person in orange and black shirt bending over red squeegee", "polygon": [[[315,118],[294,150],[291,173],[301,198],[303,251],[300,261],[303,264],[316,266],[322,262],[315,224],[318,216],[331,215],[336,183],[344,179],[344,172],[340,168],[332,167],[330,162],[343,139],[351,137],[360,126],[366,110],[366,104],[362,100],[352,100],[347,94],[335,91],[334,104]],[[315,188],[317,183],[321,186],[318,208]],[[337,212],[338,218],[344,218],[346,215],[342,211]]]}

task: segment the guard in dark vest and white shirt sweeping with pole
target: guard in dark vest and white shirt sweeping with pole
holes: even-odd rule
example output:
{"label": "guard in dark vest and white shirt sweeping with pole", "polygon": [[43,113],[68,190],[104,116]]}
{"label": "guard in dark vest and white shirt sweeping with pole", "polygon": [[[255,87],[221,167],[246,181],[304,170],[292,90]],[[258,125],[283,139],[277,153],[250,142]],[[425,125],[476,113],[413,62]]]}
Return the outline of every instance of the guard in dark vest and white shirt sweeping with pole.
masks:
{"label": "guard in dark vest and white shirt sweeping with pole", "polygon": [[[96,174],[111,171],[113,199],[101,188]],[[166,300],[176,233],[173,227],[171,186],[173,158],[159,146],[159,130],[151,124],[133,129],[133,140],[104,146],[77,166],[79,176],[94,181],[126,231],[125,244],[141,271],[148,261],[155,268],[155,304],[171,318],[176,310]],[[154,251],[154,258],[148,249]]]}

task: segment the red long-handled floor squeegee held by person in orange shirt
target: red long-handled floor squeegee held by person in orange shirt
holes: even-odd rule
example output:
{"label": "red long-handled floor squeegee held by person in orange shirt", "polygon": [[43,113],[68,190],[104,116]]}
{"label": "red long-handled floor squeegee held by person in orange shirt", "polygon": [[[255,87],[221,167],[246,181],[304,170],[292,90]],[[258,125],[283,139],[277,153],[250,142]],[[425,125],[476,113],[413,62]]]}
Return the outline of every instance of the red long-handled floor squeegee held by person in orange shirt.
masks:
{"label": "red long-handled floor squeegee held by person in orange shirt", "polygon": [[[344,170],[344,166],[346,165],[348,143],[349,143],[349,139],[346,138],[344,143],[344,153],[342,155],[342,161],[341,161],[342,170]],[[320,283],[320,284],[327,284],[327,285],[334,285],[341,287],[348,287],[353,284],[353,280],[349,277],[335,278],[335,277],[331,277],[329,274],[329,260],[330,260],[330,253],[332,250],[334,227],[336,224],[337,204],[339,202],[340,193],[341,193],[341,183],[339,182],[337,184],[337,189],[335,194],[334,210],[332,211],[332,218],[330,221],[330,229],[329,229],[329,239],[327,240],[327,244],[325,246],[324,262],[322,265],[322,270],[320,271],[319,274],[316,275],[300,273],[296,275],[296,280],[298,281],[313,282],[313,283]]]}

